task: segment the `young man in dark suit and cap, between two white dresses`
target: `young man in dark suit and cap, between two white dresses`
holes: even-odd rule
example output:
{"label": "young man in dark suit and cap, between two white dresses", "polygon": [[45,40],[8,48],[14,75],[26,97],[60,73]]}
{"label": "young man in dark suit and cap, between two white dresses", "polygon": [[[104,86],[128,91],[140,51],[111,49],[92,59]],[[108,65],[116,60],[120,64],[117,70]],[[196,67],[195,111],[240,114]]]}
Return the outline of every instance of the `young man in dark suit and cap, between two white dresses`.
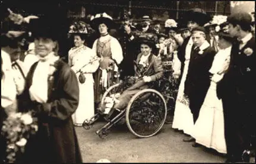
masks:
{"label": "young man in dark suit and cap, between two white dresses", "polygon": [[[206,40],[206,31],[203,27],[195,27],[192,30],[192,40],[194,44],[189,60],[184,94],[189,99],[189,108],[195,124],[210,86],[209,70],[216,52]],[[194,143],[192,146],[196,145]]]}

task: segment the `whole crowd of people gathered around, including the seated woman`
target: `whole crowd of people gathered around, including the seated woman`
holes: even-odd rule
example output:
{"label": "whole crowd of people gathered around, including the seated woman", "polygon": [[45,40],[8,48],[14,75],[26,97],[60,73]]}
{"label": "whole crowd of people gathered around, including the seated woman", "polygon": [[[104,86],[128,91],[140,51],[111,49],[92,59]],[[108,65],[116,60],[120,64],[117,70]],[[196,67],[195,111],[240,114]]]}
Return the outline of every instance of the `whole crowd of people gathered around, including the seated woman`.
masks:
{"label": "whole crowd of people gathered around, including the seated woman", "polygon": [[[115,110],[124,110],[132,95],[162,78],[161,62],[169,56],[179,85],[172,128],[184,133],[184,142],[193,142],[193,147],[225,153],[227,162],[249,162],[255,156],[256,106],[251,14],[210,18],[194,8],[184,24],[168,19],[163,28],[147,15],[137,24],[125,15],[115,28],[108,14],[96,14],[89,24],[70,26],[73,46],[68,47],[67,62],[58,55],[63,48],[59,39],[67,35],[59,31],[58,18],[23,18],[29,31],[1,35],[0,127],[14,112],[28,111],[39,126],[17,161],[82,162],[74,126],[82,126],[95,112],[106,113],[100,101],[110,86],[143,75],[143,82],[126,89],[107,113],[112,117]],[[27,36],[33,40],[21,57]],[[1,144],[4,161],[8,144],[2,136]]]}

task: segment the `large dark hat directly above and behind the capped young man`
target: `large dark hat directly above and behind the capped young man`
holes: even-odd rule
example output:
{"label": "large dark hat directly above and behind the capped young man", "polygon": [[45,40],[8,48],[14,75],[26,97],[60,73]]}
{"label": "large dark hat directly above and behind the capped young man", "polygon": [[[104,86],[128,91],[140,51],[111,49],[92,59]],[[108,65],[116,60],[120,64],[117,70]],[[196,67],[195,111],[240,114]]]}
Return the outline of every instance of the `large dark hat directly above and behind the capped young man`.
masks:
{"label": "large dark hat directly above and behind the capped young man", "polygon": [[210,15],[208,15],[201,8],[190,9],[187,13],[187,21],[197,22],[197,24],[199,24],[200,26],[203,26],[210,20],[211,20]]}

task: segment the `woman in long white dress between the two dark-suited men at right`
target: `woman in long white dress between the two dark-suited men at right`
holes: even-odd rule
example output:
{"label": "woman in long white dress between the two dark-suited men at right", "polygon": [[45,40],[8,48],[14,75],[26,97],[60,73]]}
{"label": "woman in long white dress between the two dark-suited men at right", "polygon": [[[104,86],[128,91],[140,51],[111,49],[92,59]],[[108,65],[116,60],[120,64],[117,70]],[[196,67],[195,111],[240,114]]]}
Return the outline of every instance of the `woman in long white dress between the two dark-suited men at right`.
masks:
{"label": "woman in long white dress between the two dark-suited men at right", "polygon": [[[228,34],[219,33],[219,52],[214,57],[209,72],[213,75],[204,104],[194,127],[196,143],[226,153],[226,142],[224,135],[224,118],[221,99],[217,98],[216,84],[219,82],[229,65],[233,38]],[[198,144],[195,144],[197,146]]]}

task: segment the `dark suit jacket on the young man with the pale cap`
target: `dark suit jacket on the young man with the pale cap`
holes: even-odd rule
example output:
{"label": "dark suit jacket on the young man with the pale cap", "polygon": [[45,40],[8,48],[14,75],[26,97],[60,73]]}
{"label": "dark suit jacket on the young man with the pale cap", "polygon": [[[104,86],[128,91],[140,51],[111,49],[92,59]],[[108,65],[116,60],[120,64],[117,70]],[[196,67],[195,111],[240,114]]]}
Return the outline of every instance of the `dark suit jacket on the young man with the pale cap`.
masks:
{"label": "dark suit jacket on the young man with the pale cap", "polygon": [[[203,53],[200,54],[200,51]],[[191,51],[184,94],[188,97],[205,92],[210,86],[210,68],[216,52],[210,44],[199,52]]]}

